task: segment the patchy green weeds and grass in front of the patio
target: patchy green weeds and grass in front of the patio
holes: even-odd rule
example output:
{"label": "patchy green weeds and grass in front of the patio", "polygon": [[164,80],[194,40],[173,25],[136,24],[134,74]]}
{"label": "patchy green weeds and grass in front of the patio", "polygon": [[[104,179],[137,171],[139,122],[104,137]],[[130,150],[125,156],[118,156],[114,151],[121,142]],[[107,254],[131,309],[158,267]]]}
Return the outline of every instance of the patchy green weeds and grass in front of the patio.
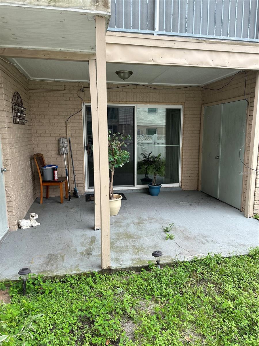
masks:
{"label": "patchy green weeds and grass in front of the patio", "polygon": [[[27,295],[10,287],[1,314],[15,335],[29,316],[33,339],[25,345],[258,346],[259,248],[249,255],[208,255],[162,270],[66,276],[31,276]],[[4,346],[22,345],[10,338]]]}

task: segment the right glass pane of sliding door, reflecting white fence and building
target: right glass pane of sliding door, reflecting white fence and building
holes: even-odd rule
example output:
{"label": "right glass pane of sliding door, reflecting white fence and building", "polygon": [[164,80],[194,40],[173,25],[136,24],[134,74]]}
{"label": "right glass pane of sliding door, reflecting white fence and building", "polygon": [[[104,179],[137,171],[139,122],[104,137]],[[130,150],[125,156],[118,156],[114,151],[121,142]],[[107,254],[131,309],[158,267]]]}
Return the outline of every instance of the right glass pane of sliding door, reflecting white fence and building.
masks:
{"label": "right glass pane of sliding door, reflecting white fence and building", "polygon": [[[148,156],[162,154],[166,162],[165,177],[160,184],[179,184],[182,108],[146,108],[137,106],[137,162]],[[152,177],[149,177],[152,178]],[[147,184],[145,176],[137,174],[137,185]]]}

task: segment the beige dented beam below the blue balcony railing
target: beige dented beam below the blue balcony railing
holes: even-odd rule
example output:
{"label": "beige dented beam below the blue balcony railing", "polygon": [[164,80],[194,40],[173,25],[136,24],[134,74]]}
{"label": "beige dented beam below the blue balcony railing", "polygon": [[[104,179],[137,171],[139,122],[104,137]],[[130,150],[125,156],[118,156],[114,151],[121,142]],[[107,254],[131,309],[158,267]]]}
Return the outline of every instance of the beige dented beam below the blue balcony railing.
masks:
{"label": "beige dented beam below the blue balcony railing", "polygon": [[257,43],[109,32],[106,34],[106,61],[258,70],[259,50]]}

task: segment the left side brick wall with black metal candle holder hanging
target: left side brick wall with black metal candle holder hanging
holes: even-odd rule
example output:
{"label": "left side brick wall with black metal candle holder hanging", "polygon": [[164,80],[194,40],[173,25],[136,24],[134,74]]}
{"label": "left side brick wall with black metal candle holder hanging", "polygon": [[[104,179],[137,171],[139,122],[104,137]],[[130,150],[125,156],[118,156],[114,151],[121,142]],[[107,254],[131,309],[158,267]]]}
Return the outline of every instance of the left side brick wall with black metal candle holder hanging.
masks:
{"label": "left side brick wall with black metal candle holder hanging", "polygon": [[[18,91],[27,108],[26,125],[13,124],[12,97]],[[15,66],[0,60],[0,131],[7,212],[10,230],[17,229],[35,199],[35,179],[31,158],[32,136],[29,109],[28,81]]]}

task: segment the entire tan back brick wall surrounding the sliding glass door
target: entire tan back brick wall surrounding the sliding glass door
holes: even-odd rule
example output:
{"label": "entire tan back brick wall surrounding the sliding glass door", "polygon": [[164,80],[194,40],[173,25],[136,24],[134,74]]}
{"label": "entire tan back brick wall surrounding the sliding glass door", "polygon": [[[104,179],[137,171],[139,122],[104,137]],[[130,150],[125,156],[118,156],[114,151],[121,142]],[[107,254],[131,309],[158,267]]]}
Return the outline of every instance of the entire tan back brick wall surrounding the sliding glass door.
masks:
{"label": "entire tan back brick wall surrounding the sliding glass door", "polygon": [[[84,86],[89,86],[84,84]],[[118,85],[108,84],[107,88]],[[121,86],[121,84],[119,85]],[[46,162],[56,163],[59,174],[64,172],[63,157],[58,155],[58,138],[66,136],[65,120],[81,108],[77,91],[78,83],[29,81],[30,107],[32,118],[33,152],[44,154]],[[183,104],[183,151],[182,188],[196,190],[199,166],[199,136],[201,117],[201,90],[153,90],[142,86],[127,86],[108,89],[108,103],[128,104]],[[79,92],[84,102],[90,102],[89,89]],[[85,191],[84,145],[82,112],[71,117],[68,122],[69,136],[73,144],[76,179],[80,192]],[[37,196],[39,183],[36,179]],[[45,191],[44,191],[45,192]],[[58,189],[51,188],[50,195],[59,195]]]}

